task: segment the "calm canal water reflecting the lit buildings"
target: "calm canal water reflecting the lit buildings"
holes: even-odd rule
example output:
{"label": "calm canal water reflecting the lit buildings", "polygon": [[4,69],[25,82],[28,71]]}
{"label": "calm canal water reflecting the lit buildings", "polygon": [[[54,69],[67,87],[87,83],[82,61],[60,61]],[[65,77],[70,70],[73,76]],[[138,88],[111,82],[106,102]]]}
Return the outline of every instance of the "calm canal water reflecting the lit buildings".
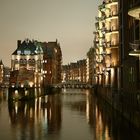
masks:
{"label": "calm canal water reflecting the lit buildings", "polygon": [[140,140],[139,133],[89,90],[65,89],[28,102],[0,90],[1,140]]}

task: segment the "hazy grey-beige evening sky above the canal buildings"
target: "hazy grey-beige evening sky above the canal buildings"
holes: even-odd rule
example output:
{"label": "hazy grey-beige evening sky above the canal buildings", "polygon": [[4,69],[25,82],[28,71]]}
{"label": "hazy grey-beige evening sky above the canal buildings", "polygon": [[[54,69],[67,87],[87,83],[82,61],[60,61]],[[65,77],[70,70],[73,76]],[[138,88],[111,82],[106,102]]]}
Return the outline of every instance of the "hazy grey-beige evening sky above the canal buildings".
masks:
{"label": "hazy grey-beige evening sky above the canal buildings", "polygon": [[63,64],[86,58],[102,0],[0,0],[0,59],[10,66],[17,40],[58,39]]}

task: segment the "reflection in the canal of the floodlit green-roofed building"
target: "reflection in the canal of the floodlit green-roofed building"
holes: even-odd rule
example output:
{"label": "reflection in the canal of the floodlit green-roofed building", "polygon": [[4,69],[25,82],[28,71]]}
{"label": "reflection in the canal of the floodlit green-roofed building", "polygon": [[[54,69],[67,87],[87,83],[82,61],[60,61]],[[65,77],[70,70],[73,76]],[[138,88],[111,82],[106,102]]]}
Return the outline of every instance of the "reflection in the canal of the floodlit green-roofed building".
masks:
{"label": "reflection in the canal of the floodlit green-roofed building", "polygon": [[61,128],[61,99],[58,94],[29,102],[8,103],[12,129],[19,139],[42,139]]}

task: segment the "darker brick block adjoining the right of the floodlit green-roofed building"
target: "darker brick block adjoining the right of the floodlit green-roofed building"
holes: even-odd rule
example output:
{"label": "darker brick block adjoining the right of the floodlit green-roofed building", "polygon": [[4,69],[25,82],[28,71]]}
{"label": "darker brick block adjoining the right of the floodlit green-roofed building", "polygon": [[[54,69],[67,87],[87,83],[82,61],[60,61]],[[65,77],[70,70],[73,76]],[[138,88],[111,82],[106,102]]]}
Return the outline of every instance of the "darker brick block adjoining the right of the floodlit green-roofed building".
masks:
{"label": "darker brick block adjoining the right of the floodlit green-roofed building", "polygon": [[61,83],[62,52],[57,42],[43,43],[43,79],[45,85]]}

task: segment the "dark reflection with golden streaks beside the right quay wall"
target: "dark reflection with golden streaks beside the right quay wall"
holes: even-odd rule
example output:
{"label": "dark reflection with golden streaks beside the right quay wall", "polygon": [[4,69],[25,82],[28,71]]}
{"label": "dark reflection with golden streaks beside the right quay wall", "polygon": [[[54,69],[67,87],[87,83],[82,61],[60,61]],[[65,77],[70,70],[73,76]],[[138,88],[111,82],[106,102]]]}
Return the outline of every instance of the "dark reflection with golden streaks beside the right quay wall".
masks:
{"label": "dark reflection with golden streaks beside the right quay wall", "polygon": [[105,140],[139,140],[140,135],[136,129],[124,119],[118,112],[113,110],[105,101],[93,98],[95,115],[92,119],[96,122],[90,123],[95,132],[95,139]]}

